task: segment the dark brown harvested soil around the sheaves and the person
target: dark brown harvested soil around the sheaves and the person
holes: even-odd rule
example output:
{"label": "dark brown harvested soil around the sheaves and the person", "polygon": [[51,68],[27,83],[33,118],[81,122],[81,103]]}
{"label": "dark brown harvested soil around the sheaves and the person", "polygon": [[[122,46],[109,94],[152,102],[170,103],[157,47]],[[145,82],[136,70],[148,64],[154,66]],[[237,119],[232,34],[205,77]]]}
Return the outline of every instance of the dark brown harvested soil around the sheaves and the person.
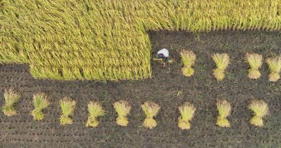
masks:
{"label": "dark brown harvested soil around the sheaves and the person", "polygon": [[[26,65],[0,65],[0,105],[3,90],[14,87],[22,97],[14,117],[0,113],[0,148],[281,148],[281,80],[268,82],[268,67],[261,67],[261,78],[247,77],[243,56],[255,52],[264,57],[280,54],[278,32],[184,32],[149,33],[153,54],[167,48],[176,63],[162,67],[152,61],[153,78],[140,81],[92,82],[34,79]],[[192,77],[184,77],[179,65],[179,51],[192,49],[198,56]],[[215,67],[210,55],[227,53],[231,58],[226,78],[217,82],[212,76]],[[45,110],[45,119],[33,122],[32,94],[46,92],[52,105]],[[69,96],[78,101],[74,123],[60,126],[58,101]],[[230,128],[216,126],[216,99],[232,103]],[[263,99],[270,107],[264,127],[249,124],[252,116],[249,100]],[[128,127],[115,124],[112,104],[120,99],[132,105]],[[100,117],[98,128],[86,128],[87,103],[99,100],[107,113]],[[140,105],[153,100],[161,105],[154,129],[141,127],[144,119]],[[191,129],[178,128],[178,106],[192,102],[197,110]]]}

